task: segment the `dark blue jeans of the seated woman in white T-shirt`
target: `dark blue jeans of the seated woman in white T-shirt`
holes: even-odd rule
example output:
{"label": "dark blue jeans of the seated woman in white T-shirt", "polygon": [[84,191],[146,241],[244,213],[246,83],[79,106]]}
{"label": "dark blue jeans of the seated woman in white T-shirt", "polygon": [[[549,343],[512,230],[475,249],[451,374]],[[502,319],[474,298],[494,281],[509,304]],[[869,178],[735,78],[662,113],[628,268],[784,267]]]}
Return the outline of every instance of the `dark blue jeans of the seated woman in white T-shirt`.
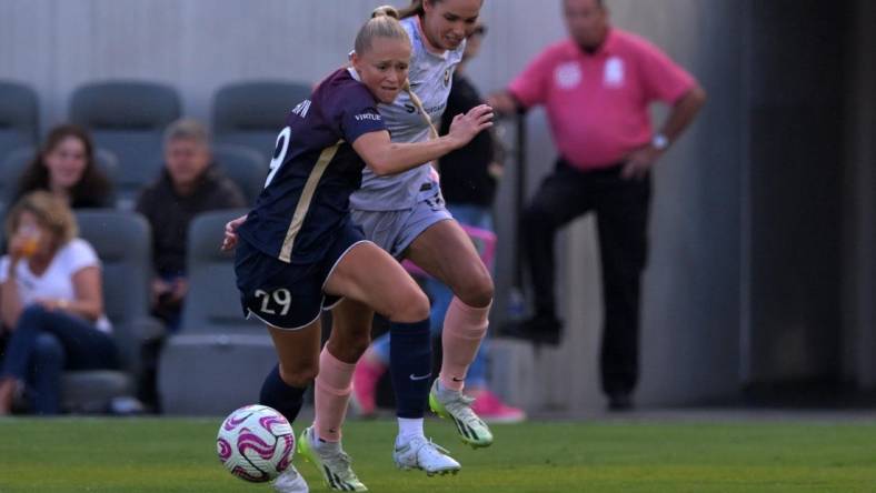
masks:
{"label": "dark blue jeans of the seated woman in white T-shirt", "polygon": [[32,304],[21,312],[9,338],[0,378],[27,382],[33,411],[61,411],[63,370],[100,370],[117,366],[112,338],[84,319]]}

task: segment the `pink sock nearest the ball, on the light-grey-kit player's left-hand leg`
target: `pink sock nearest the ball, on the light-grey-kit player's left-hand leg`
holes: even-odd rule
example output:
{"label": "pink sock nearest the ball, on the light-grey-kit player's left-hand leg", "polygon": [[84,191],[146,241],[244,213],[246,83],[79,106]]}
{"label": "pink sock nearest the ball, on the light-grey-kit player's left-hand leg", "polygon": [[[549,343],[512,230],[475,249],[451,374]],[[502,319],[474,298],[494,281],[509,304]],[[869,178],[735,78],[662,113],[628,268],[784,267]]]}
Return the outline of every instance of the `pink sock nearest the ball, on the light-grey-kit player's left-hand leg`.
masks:
{"label": "pink sock nearest the ball, on the light-grey-kit player's left-hand leg", "polygon": [[319,354],[319,375],[315,385],[317,436],[326,442],[340,442],[340,426],[347,416],[347,404],[352,392],[355,364],[345,363],[322,349]]}

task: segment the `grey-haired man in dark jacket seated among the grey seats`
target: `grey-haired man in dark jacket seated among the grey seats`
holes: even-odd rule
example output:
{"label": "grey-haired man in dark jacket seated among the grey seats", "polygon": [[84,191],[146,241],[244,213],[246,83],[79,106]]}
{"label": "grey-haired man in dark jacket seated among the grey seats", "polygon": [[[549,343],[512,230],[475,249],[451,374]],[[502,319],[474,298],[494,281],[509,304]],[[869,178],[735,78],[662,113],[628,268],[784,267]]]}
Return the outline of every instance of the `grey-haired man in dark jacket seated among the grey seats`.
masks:
{"label": "grey-haired man in dark jacket seated among the grey seats", "polygon": [[178,120],[165,132],[165,168],[137,201],[137,212],[152,227],[153,314],[179,328],[186,282],[187,232],[191,220],[207,211],[246,205],[243,193],[215,165],[207,129]]}

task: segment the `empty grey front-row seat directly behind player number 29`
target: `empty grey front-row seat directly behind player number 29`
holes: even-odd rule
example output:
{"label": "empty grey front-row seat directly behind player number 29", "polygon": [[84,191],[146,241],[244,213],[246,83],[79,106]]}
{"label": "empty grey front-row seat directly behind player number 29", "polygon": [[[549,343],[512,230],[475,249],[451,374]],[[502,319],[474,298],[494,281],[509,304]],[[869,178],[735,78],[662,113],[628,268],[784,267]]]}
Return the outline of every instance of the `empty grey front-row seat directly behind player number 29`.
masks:
{"label": "empty grey front-row seat directly behind player number 29", "polygon": [[243,318],[233,254],[219,251],[225,223],[246,212],[208,212],[189,228],[189,293],[181,329],[168,340],[158,369],[168,414],[217,415],[251,404],[277,362],[265,325]]}

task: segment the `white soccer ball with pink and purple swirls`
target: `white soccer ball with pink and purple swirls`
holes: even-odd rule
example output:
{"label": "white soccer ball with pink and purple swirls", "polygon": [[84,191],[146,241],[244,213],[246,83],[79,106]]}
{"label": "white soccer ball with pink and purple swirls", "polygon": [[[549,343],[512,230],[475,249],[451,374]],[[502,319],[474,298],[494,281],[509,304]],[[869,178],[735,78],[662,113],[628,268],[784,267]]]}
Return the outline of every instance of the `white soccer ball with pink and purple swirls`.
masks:
{"label": "white soccer ball with pink and purple swirls", "polygon": [[295,432],[267,405],[247,405],[229,414],[216,437],[219,460],[231,474],[253,483],[271,481],[289,469]]}

